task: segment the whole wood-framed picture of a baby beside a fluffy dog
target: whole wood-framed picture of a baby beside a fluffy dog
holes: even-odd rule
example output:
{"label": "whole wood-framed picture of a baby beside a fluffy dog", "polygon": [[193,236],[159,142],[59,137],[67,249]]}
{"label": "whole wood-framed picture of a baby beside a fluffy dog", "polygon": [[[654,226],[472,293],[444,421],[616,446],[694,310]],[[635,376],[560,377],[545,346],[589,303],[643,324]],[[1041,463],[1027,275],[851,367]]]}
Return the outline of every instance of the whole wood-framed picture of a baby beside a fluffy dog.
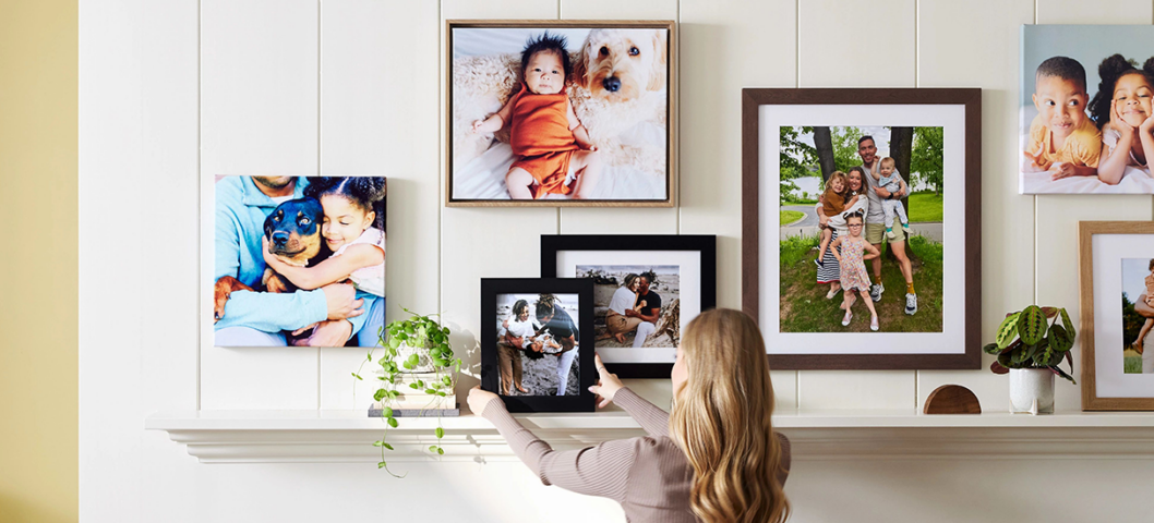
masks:
{"label": "whole wood-framed picture of a baby beside a fluffy dog", "polygon": [[672,207],[672,21],[445,22],[445,205]]}

